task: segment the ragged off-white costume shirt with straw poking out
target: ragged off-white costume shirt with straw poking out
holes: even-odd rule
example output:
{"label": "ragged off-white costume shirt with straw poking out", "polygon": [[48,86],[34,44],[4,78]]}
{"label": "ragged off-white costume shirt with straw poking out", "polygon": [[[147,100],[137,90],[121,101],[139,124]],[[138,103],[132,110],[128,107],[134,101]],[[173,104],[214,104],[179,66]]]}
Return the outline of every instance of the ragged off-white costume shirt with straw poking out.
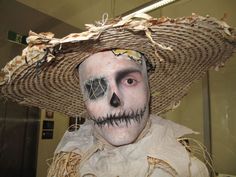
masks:
{"label": "ragged off-white costume shirt with straw poking out", "polygon": [[[206,166],[177,140],[195,132],[153,115],[149,124],[143,137],[120,147],[111,146],[95,135],[90,121],[76,132],[66,132],[55,151],[48,176],[209,176]],[[60,154],[64,154],[67,161],[58,163]]]}

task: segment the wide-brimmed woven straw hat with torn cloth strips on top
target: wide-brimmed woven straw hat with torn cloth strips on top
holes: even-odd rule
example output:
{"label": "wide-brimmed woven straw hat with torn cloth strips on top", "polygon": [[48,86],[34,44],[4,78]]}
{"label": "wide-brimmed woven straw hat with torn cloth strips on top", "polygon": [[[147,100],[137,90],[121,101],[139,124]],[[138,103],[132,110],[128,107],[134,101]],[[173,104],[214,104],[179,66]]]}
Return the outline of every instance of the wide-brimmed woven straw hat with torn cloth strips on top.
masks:
{"label": "wide-brimmed woven straw hat with torn cloth strips on top", "polygon": [[236,48],[236,33],[225,22],[194,14],[178,19],[141,14],[86,26],[87,31],[62,39],[30,32],[28,47],[0,72],[1,95],[81,116],[85,108],[77,66],[99,51],[131,49],[152,66],[150,107],[159,114],[175,107],[193,81],[222,66]]}

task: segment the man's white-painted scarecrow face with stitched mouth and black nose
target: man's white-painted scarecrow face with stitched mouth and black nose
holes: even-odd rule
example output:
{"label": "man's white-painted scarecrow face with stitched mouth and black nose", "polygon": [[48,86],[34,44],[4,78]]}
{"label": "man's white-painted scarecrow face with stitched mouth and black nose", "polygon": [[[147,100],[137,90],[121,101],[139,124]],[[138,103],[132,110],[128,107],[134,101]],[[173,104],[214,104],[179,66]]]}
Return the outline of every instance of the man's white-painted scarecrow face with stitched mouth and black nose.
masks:
{"label": "man's white-painted scarecrow face with stitched mouth and black nose", "polygon": [[111,51],[79,66],[81,90],[95,131],[114,146],[132,143],[149,117],[146,65]]}

